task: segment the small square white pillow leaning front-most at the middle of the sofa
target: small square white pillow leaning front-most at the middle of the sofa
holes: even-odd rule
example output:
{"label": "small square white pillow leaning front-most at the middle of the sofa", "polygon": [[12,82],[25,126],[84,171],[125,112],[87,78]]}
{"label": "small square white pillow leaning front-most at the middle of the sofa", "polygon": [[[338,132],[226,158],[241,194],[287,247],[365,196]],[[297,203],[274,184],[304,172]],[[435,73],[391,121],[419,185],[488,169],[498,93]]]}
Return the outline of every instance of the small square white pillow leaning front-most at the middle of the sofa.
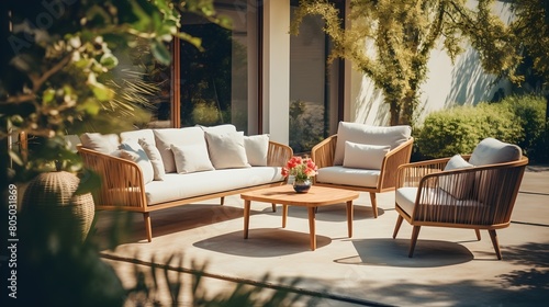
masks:
{"label": "small square white pillow leaning front-most at the middle of the sofa", "polygon": [[171,145],[178,173],[213,171],[205,145]]}

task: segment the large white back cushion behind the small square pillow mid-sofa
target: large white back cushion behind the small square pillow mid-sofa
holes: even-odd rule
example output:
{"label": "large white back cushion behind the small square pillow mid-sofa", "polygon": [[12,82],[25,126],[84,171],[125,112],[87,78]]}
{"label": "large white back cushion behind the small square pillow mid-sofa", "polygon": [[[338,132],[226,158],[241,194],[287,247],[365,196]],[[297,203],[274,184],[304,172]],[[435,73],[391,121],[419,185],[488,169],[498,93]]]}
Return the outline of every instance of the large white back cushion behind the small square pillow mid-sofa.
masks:
{"label": "large white back cushion behind the small square pillow mid-sofa", "polygon": [[167,173],[176,172],[176,161],[171,145],[201,145],[206,148],[204,132],[200,127],[153,129],[156,147],[163,156],[164,169]]}

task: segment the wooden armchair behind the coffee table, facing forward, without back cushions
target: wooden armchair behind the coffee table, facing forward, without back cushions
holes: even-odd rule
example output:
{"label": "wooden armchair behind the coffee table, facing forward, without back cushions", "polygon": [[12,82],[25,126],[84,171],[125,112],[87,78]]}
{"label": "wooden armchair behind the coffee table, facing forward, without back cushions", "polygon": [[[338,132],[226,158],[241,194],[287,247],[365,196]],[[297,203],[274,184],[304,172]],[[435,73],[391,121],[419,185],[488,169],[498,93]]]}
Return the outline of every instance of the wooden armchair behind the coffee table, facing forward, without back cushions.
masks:
{"label": "wooden armchair behind the coffee table, facing forward, without back cushions", "polygon": [[[374,127],[377,129],[378,127]],[[379,128],[386,128],[386,127],[379,127]],[[393,127],[390,127],[392,129]],[[395,127],[396,129],[400,129],[399,127]],[[341,125],[339,127],[339,130],[341,130]],[[344,144],[344,143],[343,143]],[[388,141],[389,144],[389,141]],[[314,184],[315,185],[321,185],[321,186],[332,186],[332,187],[338,187],[338,189],[347,189],[347,190],[355,190],[355,191],[361,191],[361,192],[369,192],[370,193],[370,201],[372,205],[372,211],[373,211],[373,217],[378,217],[378,203],[376,200],[376,193],[382,193],[382,192],[389,192],[393,191],[395,187],[395,182],[396,182],[396,169],[399,166],[404,164],[410,162],[410,157],[412,155],[412,147],[414,144],[414,138],[410,136],[404,136],[404,139],[396,145],[396,147],[392,148],[382,159],[381,166],[379,170],[371,170],[371,172],[377,177],[377,180],[372,181],[371,183],[365,183],[360,175],[356,177],[356,181],[354,182],[347,182],[347,183],[341,183],[337,181],[328,181],[328,180],[322,180],[322,178],[316,177]],[[336,147],[341,145],[341,141],[338,144],[338,134],[333,135],[324,139],[323,141],[318,143],[316,146],[314,146],[311,150],[311,159],[316,163],[318,167],[320,172],[324,168],[337,168],[338,162],[336,161]],[[378,144],[379,145],[379,144]],[[368,159],[368,157],[363,157],[363,159]],[[357,172],[361,171],[368,171],[368,170],[359,170],[359,169],[349,169],[349,168],[341,168],[341,175],[351,178]],[[345,173],[347,172],[348,173]]]}

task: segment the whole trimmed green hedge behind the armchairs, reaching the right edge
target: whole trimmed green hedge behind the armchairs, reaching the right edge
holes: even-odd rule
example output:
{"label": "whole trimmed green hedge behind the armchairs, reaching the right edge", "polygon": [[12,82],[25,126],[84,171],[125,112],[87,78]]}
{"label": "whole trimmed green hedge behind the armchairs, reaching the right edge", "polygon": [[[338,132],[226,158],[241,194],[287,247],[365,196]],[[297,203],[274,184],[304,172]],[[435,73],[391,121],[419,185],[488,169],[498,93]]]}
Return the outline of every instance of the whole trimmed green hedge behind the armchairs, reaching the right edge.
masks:
{"label": "whole trimmed green hedge behind the armchairs, reaching the right edge", "polygon": [[531,161],[547,161],[545,114],[546,100],[531,95],[433,112],[414,129],[414,160],[471,154],[479,141],[494,137],[517,144]]}

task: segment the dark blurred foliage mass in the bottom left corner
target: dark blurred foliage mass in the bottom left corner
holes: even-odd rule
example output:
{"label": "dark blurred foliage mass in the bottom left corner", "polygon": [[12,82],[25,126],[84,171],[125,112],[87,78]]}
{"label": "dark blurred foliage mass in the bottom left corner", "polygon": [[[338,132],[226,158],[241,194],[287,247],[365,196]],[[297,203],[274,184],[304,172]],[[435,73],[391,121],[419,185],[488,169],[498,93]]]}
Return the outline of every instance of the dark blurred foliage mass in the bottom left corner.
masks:
{"label": "dark blurred foliage mass in the bottom left corner", "polygon": [[82,242],[76,221],[53,212],[33,206],[18,214],[16,268],[10,269],[18,298],[2,306],[123,306],[125,289],[97,246]]}

